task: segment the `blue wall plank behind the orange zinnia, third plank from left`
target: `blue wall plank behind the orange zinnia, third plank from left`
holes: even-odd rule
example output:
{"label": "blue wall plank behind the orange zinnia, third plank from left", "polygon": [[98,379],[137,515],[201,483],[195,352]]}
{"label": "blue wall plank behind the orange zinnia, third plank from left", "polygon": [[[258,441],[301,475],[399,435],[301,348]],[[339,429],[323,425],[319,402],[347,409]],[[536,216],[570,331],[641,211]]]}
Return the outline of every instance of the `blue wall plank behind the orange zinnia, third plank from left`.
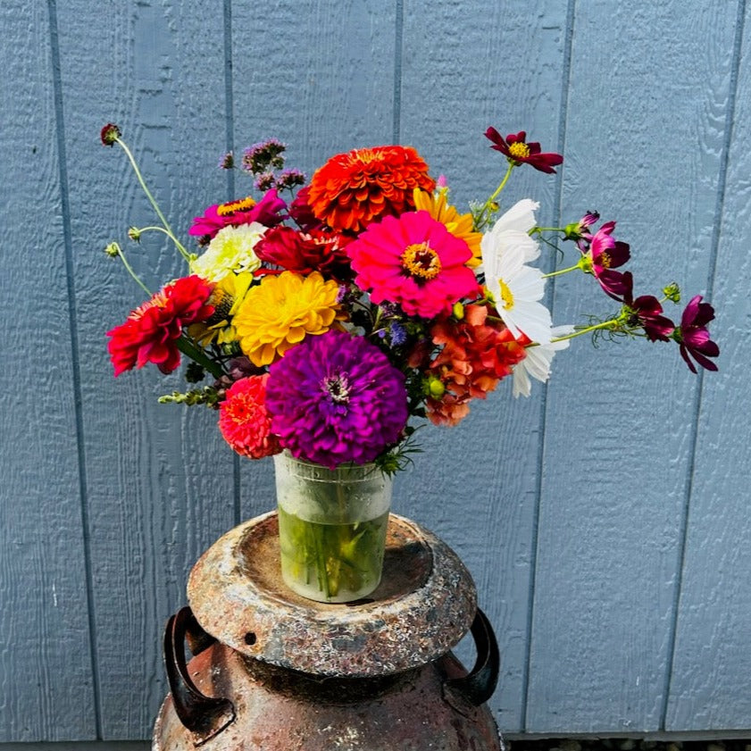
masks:
{"label": "blue wall plank behind the orange zinnia, third plank from left", "polygon": [[[390,4],[234,0],[232,19],[238,154],[257,141],[279,138],[288,144],[288,166],[310,177],[333,154],[390,142]],[[236,182],[238,195],[250,189],[245,176]],[[271,460],[242,460],[241,477],[242,518],[275,506]]]}

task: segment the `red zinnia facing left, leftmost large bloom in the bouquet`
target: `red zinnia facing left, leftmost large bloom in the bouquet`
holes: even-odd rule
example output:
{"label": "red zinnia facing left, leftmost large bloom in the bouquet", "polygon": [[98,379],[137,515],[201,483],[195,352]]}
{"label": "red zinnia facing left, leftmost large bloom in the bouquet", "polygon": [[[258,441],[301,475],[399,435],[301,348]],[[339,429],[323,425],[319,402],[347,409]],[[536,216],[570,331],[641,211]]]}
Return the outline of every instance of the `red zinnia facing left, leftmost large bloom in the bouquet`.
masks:
{"label": "red zinnia facing left, leftmost large bloom in the bouquet", "polygon": [[177,339],[184,327],[213,314],[213,285],[195,275],[168,284],[113,330],[108,349],[115,376],[154,363],[163,373],[179,365]]}

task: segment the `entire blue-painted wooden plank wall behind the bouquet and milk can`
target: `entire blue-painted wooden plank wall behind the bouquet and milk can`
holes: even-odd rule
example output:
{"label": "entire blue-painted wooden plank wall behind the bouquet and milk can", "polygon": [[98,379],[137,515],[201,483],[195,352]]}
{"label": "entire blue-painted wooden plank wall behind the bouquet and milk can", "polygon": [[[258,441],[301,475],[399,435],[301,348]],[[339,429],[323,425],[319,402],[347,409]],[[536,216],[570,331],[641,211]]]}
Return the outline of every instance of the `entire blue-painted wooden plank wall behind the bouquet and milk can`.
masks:
{"label": "entire blue-painted wooden plank wall behind the bouquet and milk can", "polygon": [[[395,510],[455,547],[504,658],[508,732],[751,729],[751,10],[746,0],[4,0],[0,4],[0,741],[149,736],[163,622],[215,538],[271,508],[208,411],[118,380],[104,331],[140,291],[102,253],[244,195],[229,147],[288,142],[307,171],[388,142],[465,204],[527,129],[565,154],[506,200],[619,221],[642,288],[713,299],[719,374],[674,346],[579,341],[548,388],[503,384],[400,477]],[[239,180],[239,178],[238,178]],[[127,240],[126,240],[127,242]],[[156,288],[158,238],[129,257]],[[552,261],[552,259],[551,259]],[[563,278],[554,317],[597,312]],[[640,345],[640,346],[639,346]]]}

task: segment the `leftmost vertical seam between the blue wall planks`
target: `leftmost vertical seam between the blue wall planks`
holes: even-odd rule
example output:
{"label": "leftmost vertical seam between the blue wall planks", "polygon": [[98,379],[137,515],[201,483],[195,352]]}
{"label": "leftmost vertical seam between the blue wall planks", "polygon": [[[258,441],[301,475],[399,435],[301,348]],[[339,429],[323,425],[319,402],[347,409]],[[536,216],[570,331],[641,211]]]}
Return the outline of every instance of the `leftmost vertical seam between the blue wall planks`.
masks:
{"label": "leftmost vertical seam between the blue wall planks", "polygon": [[60,63],[60,38],[57,23],[56,0],[48,0],[50,52],[52,58],[52,79],[54,91],[54,122],[57,145],[58,174],[60,179],[61,212],[63,214],[63,246],[65,257],[65,284],[68,296],[68,321],[71,331],[71,378],[73,389],[73,410],[76,423],[76,446],[79,474],[79,499],[81,512],[81,537],[86,575],[86,601],[88,611],[89,658],[93,673],[91,685],[94,698],[94,722],[96,740],[104,738],[102,733],[99,668],[96,655],[96,619],[94,617],[94,582],[92,581],[91,544],[89,538],[88,482],[86,472],[86,450],[83,440],[83,410],[81,376],[79,363],[79,330],[76,310],[76,288],[73,281],[73,242],[71,229],[71,204],[68,196],[68,163],[65,149],[65,120],[63,110],[63,76]]}

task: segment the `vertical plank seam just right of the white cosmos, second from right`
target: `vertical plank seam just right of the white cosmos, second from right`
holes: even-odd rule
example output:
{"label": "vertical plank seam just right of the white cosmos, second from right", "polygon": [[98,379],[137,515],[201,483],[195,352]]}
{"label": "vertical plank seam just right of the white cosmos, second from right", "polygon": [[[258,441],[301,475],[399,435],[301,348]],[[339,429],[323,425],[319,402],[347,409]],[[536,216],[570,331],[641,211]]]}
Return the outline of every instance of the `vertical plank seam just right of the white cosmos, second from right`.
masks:
{"label": "vertical plank seam just right of the white cosmos, second from right", "polygon": [[[568,98],[572,78],[572,48],[573,48],[573,26],[574,15],[576,13],[576,0],[568,0],[566,7],[566,38],[563,44],[563,75],[562,75],[562,96],[561,110],[558,116],[558,153],[563,154],[566,142],[566,122],[568,121]],[[561,223],[563,213],[563,167],[555,178],[555,219],[554,226]],[[555,277],[550,280],[550,287],[547,290],[546,302],[553,312],[553,302],[555,296]],[[540,501],[542,498],[542,473],[545,462],[545,437],[547,429],[547,383],[543,385],[540,397],[540,417],[539,417],[539,435],[538,443],[538,476],[535,488],[535,511],[532,517],[532,534],[530,544],[530,583],[529,596],[527,598],[527,658],[524,663],[522,672],[522,707],[520,717],[522,720],[522,729],[524,732],[529,727],[529,703],[530,703],[530,663],[532,655],[532,630],[535,617],[535,584],[537,582],[537,563],[538,563],[538,532],[539,532],[539,513]]]}

